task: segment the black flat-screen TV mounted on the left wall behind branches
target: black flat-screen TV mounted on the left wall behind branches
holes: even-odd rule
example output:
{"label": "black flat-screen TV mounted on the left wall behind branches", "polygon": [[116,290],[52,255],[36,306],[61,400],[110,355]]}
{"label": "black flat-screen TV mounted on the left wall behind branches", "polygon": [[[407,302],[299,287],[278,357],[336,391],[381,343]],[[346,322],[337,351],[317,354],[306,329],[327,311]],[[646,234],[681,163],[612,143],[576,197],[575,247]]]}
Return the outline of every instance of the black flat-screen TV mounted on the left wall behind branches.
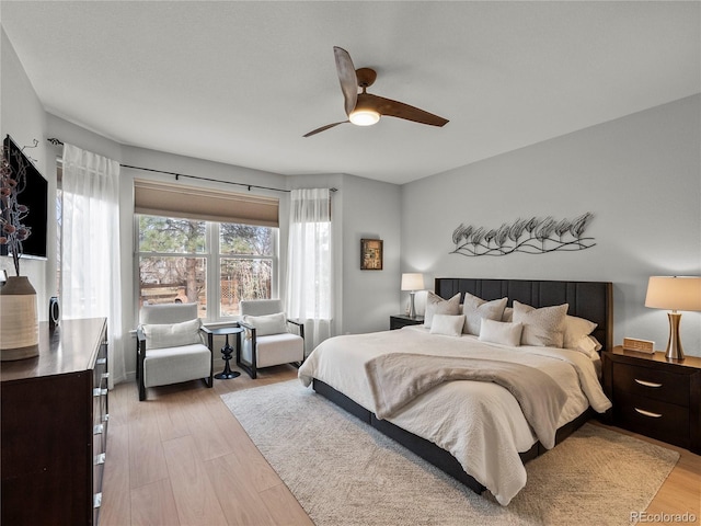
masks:
{"label": "black flat-screen TV mounted on the left wall behind branches", "polygon": [[[4,139],[3,147],[12,173],[19,173],[20,167],[23,165],[26,174],[26,186],[18,196],[18,201],[30,209],[23,222],[32,229],[32,233],[22,241],[22,256],[46,259],[48,182],[9,135]],[[0,244],[0,255],[9,255],[5,244]]]}

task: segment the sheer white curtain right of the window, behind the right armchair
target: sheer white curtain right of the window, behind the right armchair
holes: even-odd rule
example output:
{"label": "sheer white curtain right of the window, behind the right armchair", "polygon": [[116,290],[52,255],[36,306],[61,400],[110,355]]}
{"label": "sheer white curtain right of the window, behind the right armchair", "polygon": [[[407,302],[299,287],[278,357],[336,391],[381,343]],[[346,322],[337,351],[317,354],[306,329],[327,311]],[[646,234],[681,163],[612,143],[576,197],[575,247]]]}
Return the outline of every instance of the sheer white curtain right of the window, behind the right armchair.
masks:
{"label": "sheer white curtain right of the window, behind the right armchair", "polygon": [[331,336],[331,248],[329,188],[294,190],[287,249],[287,316],[304,322],[307,354]]}

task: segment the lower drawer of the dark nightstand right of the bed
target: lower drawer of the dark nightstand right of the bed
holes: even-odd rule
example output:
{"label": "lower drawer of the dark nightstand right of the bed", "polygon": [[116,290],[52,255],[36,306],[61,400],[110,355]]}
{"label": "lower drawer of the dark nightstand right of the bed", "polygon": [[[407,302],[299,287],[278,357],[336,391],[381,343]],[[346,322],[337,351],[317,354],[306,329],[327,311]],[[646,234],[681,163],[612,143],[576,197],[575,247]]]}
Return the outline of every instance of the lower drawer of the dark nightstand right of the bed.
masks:
{"label": "lower drawer of the dark nightstand right of the bed", "polygon": [[613,414],[623,427],[669,444],[689,447],[689,410],[674,403],[614,391]]}

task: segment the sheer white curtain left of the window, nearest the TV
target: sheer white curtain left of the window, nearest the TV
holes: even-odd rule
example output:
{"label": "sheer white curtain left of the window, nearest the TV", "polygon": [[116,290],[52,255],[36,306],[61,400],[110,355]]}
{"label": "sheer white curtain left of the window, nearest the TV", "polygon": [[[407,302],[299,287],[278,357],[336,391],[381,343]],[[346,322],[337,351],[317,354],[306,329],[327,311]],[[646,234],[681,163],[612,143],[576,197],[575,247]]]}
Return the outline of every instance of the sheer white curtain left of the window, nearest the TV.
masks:
{"label": "sheer white curtain left of the window, nearest the TV", "polygon": [[65,319],[107,318],[110,386],[126,377],[122,336],[119,163],[64,145],[60,298]]}

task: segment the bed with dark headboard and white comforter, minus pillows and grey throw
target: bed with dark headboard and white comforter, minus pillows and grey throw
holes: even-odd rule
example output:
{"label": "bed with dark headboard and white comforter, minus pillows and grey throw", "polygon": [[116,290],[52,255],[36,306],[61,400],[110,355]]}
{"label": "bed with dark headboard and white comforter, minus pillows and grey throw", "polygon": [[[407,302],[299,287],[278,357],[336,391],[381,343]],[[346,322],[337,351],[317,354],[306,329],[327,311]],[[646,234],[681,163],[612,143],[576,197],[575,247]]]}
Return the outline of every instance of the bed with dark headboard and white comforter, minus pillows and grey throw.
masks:
{"label": "bed with dark headboard and white comforter, minus pillows and grey throw", "polygon": [[[600,343],[601,350],[612,347],[610,283],[437,278],[435,295],[443,298],[446,305],[448,300],[455,302],[456,297],[460,298],[461,305],[463,300],[471,301],[474,298],[491,304],[497,302],[499,298],[508,298],[507,311],[514,311],[514,307],[542,309],[567,304],[567,317],[596,324],[590,336]],[[436,329],[438,320],[443,323],[450,318],[435,317],[433,329]],[[382,377],[375,378],[370,374],[375,370],[376,363],[389,363],[387,358],[401,359],[398,363],[402,367],[406,364],[413,367],[414,361],[417,367],[429,361],[438,361],[436,364],[441,367],[448,363],[462,364],[463,359],[469,365],[475,359],[485,361],[480,364],[492,362],[496,365],[498,362],[507,367],[514,363],[514,367],[521,367],[516,371],[528,367],[538,369],[533,374],[541,377],[544,375],[556,378],[556,384],[566,396],[563,398],[560,393],[563,401],[553,410],[556,419],[551,422],[555,424],[551,436],[541,432],[542,425],[533,427],[532,421],[528,420],[533,418],[532,414],[525,415],[528,413],[524,409],[527,404],[517,397],[521,393],[515,395],[509,385],[474,381],[471,379],[473,369],[469,367],[469,376],[461,376],[462,369],[458,368],[456,370],[460,374],[455,378],[457,381],[432,384],[429,388],[417,390],[413,398],[402,400],[399,407],[388,411],[378,398],[377,386],[390,384],[387,380],[382,384]],[[598,353],[587,356],[578,351],[550,346],[512,347],[485,343],[475,335],[450,336],[417,325],[329,339],[307,358],[299,369],[299,378],[304,385],[313,385],[319,395],[473,491],[482,493],[489,489],[497,502],[507,505],[526,484],[524,462],[543,454],[549,447],[565,439],[593,414],[610,407],[597,378],[599,364]],[[404,376],[406,371],[405,368],[397,370],[401,371],[399,376]],[[531,413],[537,414],[538,411],[531,410]]]}

